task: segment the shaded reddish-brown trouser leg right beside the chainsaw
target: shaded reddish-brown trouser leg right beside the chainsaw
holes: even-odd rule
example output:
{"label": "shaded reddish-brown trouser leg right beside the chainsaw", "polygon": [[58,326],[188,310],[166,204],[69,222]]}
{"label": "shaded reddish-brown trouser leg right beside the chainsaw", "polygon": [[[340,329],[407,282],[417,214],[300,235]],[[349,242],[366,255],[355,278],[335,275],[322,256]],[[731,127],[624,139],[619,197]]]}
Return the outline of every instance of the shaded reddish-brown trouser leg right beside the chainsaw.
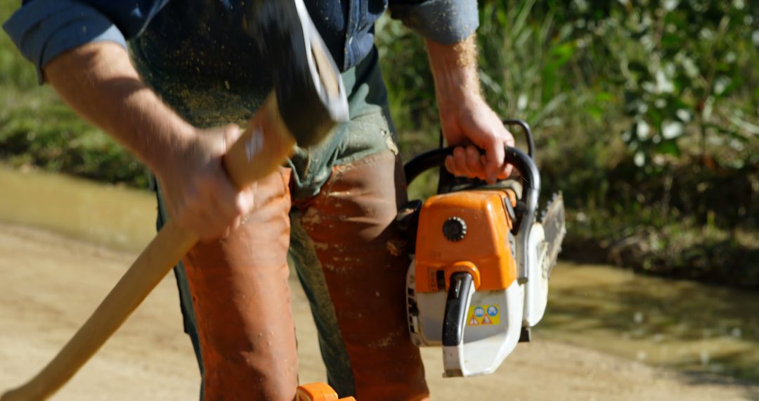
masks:
{"label": "shaded reddish-brown trouser leg right beside the chainsaw", "polygon": [[[400,160],[384,151],[335,166],[320,194],[303,207],[300,220],[294,222],[312,242],[331,299],[331,305],[320,305],[314,299],[318,294],[309,288],[313,283],[304,280],[313,278],[313,272],[299,271],[317,326],[340,333],[320,333],[323,354],[327,354],[325,359],[347,354],[351,370],[330,371],[330,377],[345,380],[352,374],[352,386],[332,384],[341,396],[353,393],[359,401],[428,396],[419,349],[411,343],[406,324],[408,254],[392,226],[398,205],[405,199]],[[294,237],[297,234],[294,232]],[[337,327],[330,328],[331,324]],[[336,340],[342,344],[334,344]],[[342,365],[326,362],[328,370]]]}

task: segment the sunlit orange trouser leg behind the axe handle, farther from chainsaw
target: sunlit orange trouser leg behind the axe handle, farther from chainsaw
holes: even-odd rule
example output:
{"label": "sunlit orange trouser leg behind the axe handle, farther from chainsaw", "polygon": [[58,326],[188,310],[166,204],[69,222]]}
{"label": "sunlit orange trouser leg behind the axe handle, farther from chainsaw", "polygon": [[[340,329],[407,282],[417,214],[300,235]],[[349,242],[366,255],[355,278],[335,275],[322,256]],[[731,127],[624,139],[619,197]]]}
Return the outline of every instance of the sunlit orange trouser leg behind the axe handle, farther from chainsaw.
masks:
{"label": "sunlit orange trouser leg behind the axe handle, farther from chainsaw", "polygon": [[287,251],[289,169],[257,183],[255,210],[221,241],[184,258],[206,400],[292,400],[298,355]]}

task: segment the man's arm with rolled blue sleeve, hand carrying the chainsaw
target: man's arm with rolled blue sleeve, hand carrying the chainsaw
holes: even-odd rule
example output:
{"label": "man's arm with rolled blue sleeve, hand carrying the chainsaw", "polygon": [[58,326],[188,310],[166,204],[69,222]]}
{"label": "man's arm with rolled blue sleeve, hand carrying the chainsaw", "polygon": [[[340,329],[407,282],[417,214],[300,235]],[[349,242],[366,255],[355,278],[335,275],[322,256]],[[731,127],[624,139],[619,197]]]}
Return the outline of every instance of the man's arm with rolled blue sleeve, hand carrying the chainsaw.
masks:
{"label": "man's arm with rolled blue sleeve, hand carrying the chainsaw", "polygon": [[456,146],[446,168],[490,183],[506,178],[511,167],[504,164],[504,147],[513,146],[514,138],[480,90],[477,0],[391,0],[390,5],[392,17],[425,37],[442,133]]}

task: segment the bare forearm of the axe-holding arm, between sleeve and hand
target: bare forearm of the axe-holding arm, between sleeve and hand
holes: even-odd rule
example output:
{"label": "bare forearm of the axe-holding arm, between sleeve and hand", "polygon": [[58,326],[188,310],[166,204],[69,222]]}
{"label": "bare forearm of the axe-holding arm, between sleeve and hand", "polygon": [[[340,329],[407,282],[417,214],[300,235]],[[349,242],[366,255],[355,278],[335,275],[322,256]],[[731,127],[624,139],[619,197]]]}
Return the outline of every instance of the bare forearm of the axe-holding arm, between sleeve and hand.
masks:
{"label": "bare forearm of the axe-holding arm, between sleeve and hand", "polygon": [[194,132],[143,84],[127,52],[115,43],[90,43],[58,55],[45,74],[72,109],[159,175]]}

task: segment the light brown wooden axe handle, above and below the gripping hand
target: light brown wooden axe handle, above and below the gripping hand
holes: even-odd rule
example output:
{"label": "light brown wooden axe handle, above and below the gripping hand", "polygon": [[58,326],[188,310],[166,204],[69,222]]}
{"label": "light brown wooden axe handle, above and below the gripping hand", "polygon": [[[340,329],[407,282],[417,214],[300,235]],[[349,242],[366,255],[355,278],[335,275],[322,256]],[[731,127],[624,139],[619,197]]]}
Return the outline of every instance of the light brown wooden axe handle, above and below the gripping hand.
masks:
{"label": "light brown wooden axe handle, above and below the gripping hand", "polygon": [[[232,182],[244,188],[276,171],[291,155],[294,144],[272,93],[225,154],[225,169]],[[60,389],[121,327],[197,239],[193,232],[169,220],[58,355],[27,384],[8,391],[0,400],[46,399]]]}

